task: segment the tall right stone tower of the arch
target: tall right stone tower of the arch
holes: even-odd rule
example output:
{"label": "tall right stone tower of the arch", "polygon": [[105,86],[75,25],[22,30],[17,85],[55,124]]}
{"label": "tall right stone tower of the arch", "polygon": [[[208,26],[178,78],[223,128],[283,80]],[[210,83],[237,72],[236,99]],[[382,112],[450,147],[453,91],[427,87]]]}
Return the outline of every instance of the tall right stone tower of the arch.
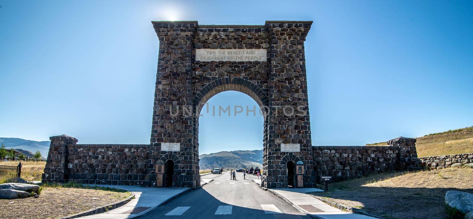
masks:
{"label": "tall right stone tower of the arch", "polygon": [[[304,41],[312,21],[266,21],[270,38],[270,90],[268,149],[263,165],[268,169],[262,184],[268,188],[288,186],[284,160],[304,163],[304,187],[315,186],[313,152],[307,98]],[[283,110],[295,109],[294,115]],[[305,114],[298,113],[298,107]],[[290,112],[290,111],[287,111]],[[281,143],[299,143],[300,152],[281,152]],[[283,159],[286,157],[285,159]]]}

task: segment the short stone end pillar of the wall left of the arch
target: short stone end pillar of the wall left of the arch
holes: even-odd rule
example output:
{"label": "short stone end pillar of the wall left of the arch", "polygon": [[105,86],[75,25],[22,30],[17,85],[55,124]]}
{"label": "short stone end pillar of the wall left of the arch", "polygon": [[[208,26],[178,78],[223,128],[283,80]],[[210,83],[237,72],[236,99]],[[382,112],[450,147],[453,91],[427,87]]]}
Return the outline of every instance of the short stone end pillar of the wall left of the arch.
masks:
{"label": "short stone end pillar of the wall left of the arch", "polygon": [[49,137],[49,146],[46,166],[41,178],[43,182],[65,182],[68,176],[68,145],[77,144],[77,138],[69,135]]}

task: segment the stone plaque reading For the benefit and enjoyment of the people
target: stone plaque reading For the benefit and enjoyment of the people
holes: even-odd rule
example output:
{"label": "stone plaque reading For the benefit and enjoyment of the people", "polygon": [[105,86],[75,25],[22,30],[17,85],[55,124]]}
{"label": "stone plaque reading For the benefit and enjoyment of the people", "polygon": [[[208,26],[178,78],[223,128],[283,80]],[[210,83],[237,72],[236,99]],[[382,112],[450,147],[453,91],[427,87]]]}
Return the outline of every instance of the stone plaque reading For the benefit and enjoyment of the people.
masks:
{"label": "stone plaque reading For the benefit and enjoyment of the people", "polygon": [[266,61],[266,49],[196,49],[196,61]]}

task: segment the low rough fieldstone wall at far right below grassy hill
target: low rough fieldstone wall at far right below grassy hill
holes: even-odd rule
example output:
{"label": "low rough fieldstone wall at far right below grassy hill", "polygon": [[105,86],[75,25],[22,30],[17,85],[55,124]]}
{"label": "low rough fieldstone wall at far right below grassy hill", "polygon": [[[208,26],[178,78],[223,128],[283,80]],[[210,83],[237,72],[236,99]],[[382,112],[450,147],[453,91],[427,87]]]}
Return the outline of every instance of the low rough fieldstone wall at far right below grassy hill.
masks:
{"label": "low rough fieldstone wall at far right below grassy hill", "polygon": [[463,166],[473,163],[473,153],[451,154],[432,157],[421,157],[420,166],[427,169],[449,168],[452,165]]}

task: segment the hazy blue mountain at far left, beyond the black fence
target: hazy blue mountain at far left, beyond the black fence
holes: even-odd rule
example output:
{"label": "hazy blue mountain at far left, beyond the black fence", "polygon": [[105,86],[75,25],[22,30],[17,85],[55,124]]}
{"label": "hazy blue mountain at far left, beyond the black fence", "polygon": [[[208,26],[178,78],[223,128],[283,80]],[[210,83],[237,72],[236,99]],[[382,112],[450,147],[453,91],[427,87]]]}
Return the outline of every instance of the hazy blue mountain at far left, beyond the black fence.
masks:
{"label": "hazy blue mountain at far left, beyond the black fence", "polygon": [[39,150],[41,152],[41,155],[46,158],[48,156],[49,152],[49,144],[51,143],[50,141],[44,141],[44,142],[37,142],[37,141],[31,141],[31,140],[25,140],[21,138],[0,138],[0,144],[4,143],[6,148],[14,148],[15,150],[19,149],[26,151],[24,154],[26,156],[32,157],[32,154]]}

